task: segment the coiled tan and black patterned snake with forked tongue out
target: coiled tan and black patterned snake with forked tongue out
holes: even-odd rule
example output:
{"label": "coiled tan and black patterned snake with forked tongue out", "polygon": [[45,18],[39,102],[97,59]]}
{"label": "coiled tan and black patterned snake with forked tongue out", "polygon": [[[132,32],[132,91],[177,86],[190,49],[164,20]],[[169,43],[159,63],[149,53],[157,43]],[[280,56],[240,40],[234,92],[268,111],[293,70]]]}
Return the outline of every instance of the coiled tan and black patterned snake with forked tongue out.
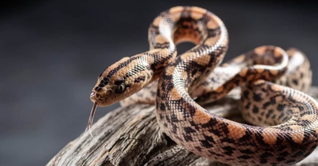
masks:
{"label": "coiled tan and black patterned snake with forked tongue out", "polygon": [[[90,132],[98,106],[141,101],[137,97],[143,92],[148,93],[144,100],[155,104],[163,133],[214,161],[291,165],[316,148],[318,103],[301,92],[309,89],[312,77],[303,52],[264,45],[221,64],[228,49],[227,29],[215,14],[195,6],[163,11],[150,24],[148,40],[149,51],[120,59],[98,77],[90,94]],[[177,56],[176,45],[185,41],[195,46]],[[200,106],[237,87],[249,124]]]}

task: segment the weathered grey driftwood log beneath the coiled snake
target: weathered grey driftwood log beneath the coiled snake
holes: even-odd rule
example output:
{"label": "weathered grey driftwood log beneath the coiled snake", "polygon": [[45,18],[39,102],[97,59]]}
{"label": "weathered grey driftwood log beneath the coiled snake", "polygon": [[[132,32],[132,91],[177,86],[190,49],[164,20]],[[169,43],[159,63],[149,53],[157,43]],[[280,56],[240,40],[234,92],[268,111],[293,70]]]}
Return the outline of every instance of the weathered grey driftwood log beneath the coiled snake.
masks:
{"label": "weathered grey driftwood log beneath the coiled snake", "polygon": [[[318,99],[318,87],[308,93]],[[233,121],[243,122],[238,111],[238,90],[225,99],[204,106]],[[68,143],[47,166],[55,165],[227,165],[195,155],[164,135],[155,107],[135,104],[120,107],[100,118],[92,128]],[[318,165],[318,149],[296,165]]]}

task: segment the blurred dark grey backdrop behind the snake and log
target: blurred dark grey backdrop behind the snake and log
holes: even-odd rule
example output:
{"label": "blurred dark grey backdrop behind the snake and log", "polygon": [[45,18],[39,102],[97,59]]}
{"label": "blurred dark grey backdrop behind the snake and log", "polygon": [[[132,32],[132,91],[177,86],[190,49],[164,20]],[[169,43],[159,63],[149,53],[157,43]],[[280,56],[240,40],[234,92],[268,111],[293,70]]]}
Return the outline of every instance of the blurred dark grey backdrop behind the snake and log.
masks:
{"label": "blurred dark grey backdrop behind the snake and log", "polygon": [[[297,47],[318,85],[315,4],[246,1],[36,1],[0,12],[0,165],[44,165],[84,132],[100,72],[147,51],[147,30],[163,10],[195,5],[220,17],[230,35],[225,60],[260,45]],[[178,52],[192,44],[178,46]],[[99,107],[97,121],[118,107]]]}

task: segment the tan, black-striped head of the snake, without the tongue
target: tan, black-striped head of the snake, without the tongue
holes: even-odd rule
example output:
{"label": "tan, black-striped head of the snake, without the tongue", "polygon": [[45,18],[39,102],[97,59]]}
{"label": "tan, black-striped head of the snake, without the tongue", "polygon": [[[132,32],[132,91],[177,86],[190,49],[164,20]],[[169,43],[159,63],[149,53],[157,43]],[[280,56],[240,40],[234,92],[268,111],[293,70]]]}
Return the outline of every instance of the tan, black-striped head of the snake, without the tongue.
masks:
{"label": "tan, black-striped head of the snake, without the tongue", "polygon": [[148,80],[141,69],[140,61],[128,57],[107,67],[98,77],[90,99],[99,106],[109,106],[136,93]]}

